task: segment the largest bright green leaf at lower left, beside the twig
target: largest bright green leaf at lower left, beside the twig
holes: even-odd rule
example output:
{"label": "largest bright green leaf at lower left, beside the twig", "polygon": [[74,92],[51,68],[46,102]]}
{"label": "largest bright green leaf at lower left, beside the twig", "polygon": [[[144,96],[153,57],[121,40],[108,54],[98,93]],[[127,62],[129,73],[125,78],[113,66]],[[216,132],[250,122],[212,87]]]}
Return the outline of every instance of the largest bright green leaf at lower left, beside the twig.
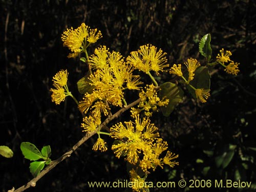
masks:
{"label": "largest bright green leaf at lower left, beside the twig", "polygon": [[20,150],[22,150],[22,154],[24,155],[24,157],[31,161],[45,159],[44,157],[42,157],[42,154],[40,153],[38,148],[36,148],[36,146],[30,142],[22,142],[22,144],[20,144]]}

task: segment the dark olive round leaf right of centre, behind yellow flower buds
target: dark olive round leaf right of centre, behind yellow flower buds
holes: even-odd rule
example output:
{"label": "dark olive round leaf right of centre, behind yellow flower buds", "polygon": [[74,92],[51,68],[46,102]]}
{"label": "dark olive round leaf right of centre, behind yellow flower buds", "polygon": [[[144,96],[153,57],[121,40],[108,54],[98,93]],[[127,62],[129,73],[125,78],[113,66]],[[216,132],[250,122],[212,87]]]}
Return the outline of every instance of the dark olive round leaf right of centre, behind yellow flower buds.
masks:
{"label": "dark olive round leaf right of centre, behind yellow flower buds", "polygon": [[164,116],[169,116],[174,111],[175,106],[182,101],[184,92],[176,84],[165,82],[161,84],[159,98],[169,99],[167,106],[161,106],[161,111]]}

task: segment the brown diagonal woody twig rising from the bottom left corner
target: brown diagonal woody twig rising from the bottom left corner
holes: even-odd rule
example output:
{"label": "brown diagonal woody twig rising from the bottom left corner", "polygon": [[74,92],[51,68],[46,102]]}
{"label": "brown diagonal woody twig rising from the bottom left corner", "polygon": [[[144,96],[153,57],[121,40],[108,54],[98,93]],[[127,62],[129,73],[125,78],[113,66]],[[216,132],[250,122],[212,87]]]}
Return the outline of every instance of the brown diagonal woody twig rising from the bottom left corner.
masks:
{"label": "brown diagonal woody twig rising from the bottom left corner", "polygon": [[[110,121],[112,121],[113,119],[117,118],[119,115],[121,115],[123,112],[125,112],[126,110],[132,108],[132,106],[138,104],[140,102],[140,99],[137,99],[136,101],[130,103],[127,106],[124,106],[122,109],[120,109],[118,112],[116,112],[114,115],[109,116],[108,118],[106,118],[103,123],[101,123],[100,128],[106,126],[106,124],[108,124]],[[14,190],[14,187],[10,190],[8,190],[8,192],[22,192],[30,187],[35,187],[36,186],[36,182],[41,179],[42,177],[44,177],[51,169],[53,169],[57,164],[59,164],[61,161],[65,160],[66,158],[70,157],[71,154],[77,150],[77,148],[79,146],[81,146],[81,144],[83,144],[85,141],[87,141],[89,138],[91,138],[94,134],[96,134],[95,132],[92,132],[90,134],[86,134],[85,136],[83,136],[68,152],[66,152],[65,154],[63,154],[61,157],[59,157],[57,160],[52,161],[44,170],[42,170],[38,176],[36,176],[34,179],[32,179],[31,181],[29,181],[27,184],[19,187],[18,189]]]}

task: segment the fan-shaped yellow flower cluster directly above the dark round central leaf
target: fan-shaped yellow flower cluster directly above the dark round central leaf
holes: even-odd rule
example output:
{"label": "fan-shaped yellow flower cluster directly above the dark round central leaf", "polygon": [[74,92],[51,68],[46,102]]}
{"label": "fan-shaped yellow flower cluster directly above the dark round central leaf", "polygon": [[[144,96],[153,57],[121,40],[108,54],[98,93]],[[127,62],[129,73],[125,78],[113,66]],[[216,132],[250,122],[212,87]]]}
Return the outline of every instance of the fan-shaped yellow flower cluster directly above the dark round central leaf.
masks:
{"label": "fan-shaped yellow flower cluster directly above the dark round central leaf", "polygon": [[159,71],[164,71],[163,68],[168,67],[166,64],[166,53],[163,53],[161,49],[157,51],[157,48],[152,45],[140,46],[138,51],[131,52],[131,55],[127,57],[127,62],[132,64],[136,69],[145,73],[155,71],[159,74]]}

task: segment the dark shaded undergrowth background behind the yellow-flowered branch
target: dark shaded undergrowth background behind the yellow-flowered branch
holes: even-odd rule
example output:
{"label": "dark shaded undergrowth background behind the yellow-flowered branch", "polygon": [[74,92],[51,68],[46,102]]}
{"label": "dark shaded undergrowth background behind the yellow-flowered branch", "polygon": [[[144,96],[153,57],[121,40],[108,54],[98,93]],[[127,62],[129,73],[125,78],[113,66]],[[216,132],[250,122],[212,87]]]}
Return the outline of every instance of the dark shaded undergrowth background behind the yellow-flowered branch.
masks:
{"label": "dark shaded undergrowth background behind the yellow-flowered branch", "polygon": [[[60,36],[66,28],[77,28],[82,22],[103,34],[92,48],[105,45],[127,56],[150,43],[167,53],[170,65],[190,57],[203,63],[198,43],[206,33],[211,34],[213,55],[222,47],[230,50],[231,59],[241,63],[238,76],[215,68],[207,103],[197,104],[186,94],[184,102],[169,117],[158,113],[152,119],[170,150],[179,154],[180,165],[175,169],[158,168],[148,181],[241,179],[252,181],[254,189],[228,191],[256,190],[255,1],[2,0],[0,13],[0,145],[7,145],[14,152],[11,159],[0,157],[1,191],[18,188],[32,179],[29,161],[19,150],[21,142],[29,141],[39,148],[49,144],[51,159],[56,159],[84,135],[80,128],[82,118],[73,100],[68,98],[55,105],[49,93],[52,76],[60,69],[68,69],[69,87],[80,97],[76,82],[85,69],[78,60],[67,58],[69,51],[62,47]],[[89,50],[89,54],[92,52]],[[161,78],[170,80],[170,76]],[[84,143],[27,191],[113,191],[88,188],[87,181],[129,179],[123,159],[115,158],[111,150],[93,152],[94,141],[92,138]],[[108,141],[109,148],[112,142]],[[230,151],[229,145],[236,145],[236,149]],[[218,162],[228,164],[222,167]],[[172,188],[185,190],[200,191]]]}

